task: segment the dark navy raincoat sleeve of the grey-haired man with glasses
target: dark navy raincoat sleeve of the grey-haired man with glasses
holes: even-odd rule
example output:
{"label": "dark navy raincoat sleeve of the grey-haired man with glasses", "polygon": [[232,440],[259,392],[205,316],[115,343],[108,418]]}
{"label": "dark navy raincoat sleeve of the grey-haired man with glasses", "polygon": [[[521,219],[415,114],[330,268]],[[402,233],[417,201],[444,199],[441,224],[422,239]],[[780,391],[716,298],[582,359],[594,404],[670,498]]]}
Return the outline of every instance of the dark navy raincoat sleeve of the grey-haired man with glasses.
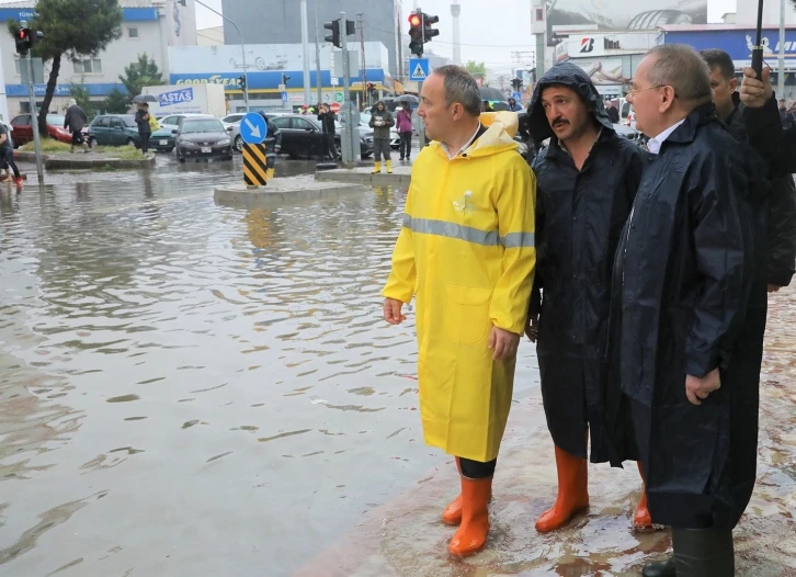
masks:
{"label": "dark navy raincoat sleeve of the grey-haired man with glasses", "polygon": [[713,151],[695,169],[689,190],[692,238],[701,290],[685,340],[685,372],[703,377],[726,367],[744,312],[751,239],[743,226],[744,167],[727,166]]}

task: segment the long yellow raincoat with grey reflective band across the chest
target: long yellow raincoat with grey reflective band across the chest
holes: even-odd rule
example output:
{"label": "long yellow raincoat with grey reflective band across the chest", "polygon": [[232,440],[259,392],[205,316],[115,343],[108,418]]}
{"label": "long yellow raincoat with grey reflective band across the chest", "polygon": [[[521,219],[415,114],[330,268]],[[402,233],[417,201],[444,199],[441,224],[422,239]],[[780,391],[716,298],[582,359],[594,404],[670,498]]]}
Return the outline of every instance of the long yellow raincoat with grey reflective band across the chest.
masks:
{"label": "long yellow raincoat with grey reflective band across the chest", "polygon": [[488,462],[509,417],[516,358],[492,361],[492,326],[522,335],[536,264],[536,182],[498,113],[448,160],[439,143],[412,166],[383,295],[417,298],[420,411],[428,444]]}

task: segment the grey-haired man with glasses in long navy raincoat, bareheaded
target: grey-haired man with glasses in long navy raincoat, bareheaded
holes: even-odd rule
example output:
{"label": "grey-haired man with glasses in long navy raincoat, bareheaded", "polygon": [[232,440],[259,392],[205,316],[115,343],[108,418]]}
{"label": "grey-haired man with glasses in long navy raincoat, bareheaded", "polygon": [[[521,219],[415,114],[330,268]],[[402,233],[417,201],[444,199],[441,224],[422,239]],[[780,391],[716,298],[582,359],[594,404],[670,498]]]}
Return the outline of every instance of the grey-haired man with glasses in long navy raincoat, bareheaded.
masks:
{"label": "grey-haired man with glasses in long navy raincoat, bareheaded", "polygon": [[679,577],[734,575],[757,463],[759,375],[744,371],[739,335],[760,174],[710,100],[693,48],[656,46],[639,64],[628,101],[651,155],[614,271],[621,391]]}

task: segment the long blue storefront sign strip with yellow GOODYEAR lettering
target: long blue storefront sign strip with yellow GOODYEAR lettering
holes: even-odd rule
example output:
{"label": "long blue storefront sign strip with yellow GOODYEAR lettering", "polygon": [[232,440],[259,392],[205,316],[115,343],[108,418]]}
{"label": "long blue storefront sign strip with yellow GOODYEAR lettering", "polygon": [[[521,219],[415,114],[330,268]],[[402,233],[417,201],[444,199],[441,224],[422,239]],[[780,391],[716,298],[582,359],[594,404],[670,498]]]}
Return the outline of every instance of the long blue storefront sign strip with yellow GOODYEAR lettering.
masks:
{"label": "long blue storefront sign strip with yellow GOODYEAR lettering", "polygon": [[[282,75],[285,73],[291,77],[291,81],[287,88],[304,88],[303,72],[300,70],[274,70],[263,72],[249,71],[249,91],[252,90],[278,90],[282,83]],[[242,90],[238,83],[240,72],[205,72],[205,73],[172,73],[170,76],[170,82],[177,86],[192,86],[192,84],[221,84],[225,90]],[[317,86],[316,81],[317,72],[310,70],[309,83],[312,88]],[[384,83],[385,73],[380,68],[368,68],[366,70],[366,77],[368,82],[376,84]],[[331,72],[329,70],[321,70],[320,81],[325,87],[331,87]],[[351,78],[352,82],[362,81],[362,70],[359,70],[356,76]],[[342,78],[338,79],[339,86],[342,87]]]}

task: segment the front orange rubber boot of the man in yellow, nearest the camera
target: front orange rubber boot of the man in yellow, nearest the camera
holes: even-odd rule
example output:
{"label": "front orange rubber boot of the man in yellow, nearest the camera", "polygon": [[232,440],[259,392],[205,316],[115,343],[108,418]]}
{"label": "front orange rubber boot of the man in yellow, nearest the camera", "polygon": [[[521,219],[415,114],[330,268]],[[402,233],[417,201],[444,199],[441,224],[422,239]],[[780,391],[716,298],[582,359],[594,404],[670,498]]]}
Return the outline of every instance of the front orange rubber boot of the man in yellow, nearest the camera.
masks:
{"label": "front orange rubber boot of the man in yellow, nearest the camera", "polygon": [[478,553],[487,543],[492,477],[470,479],[462,476],[462,524],[454,533],[447,551],[457,557]]}

